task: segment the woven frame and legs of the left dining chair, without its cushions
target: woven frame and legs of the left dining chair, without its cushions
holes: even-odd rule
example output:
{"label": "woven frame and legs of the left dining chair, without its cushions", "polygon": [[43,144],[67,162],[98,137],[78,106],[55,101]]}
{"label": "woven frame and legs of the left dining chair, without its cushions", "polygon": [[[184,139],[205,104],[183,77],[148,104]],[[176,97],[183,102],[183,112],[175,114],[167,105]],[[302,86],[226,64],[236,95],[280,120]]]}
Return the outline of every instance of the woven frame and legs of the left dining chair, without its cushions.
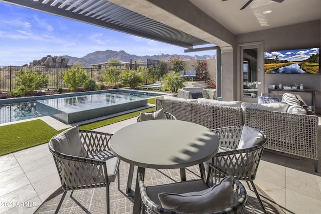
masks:
{"label": "woven frame and legs of the left dining chair, without its cushions", "polygon": [[[79,135],[81,140],[80,143],[83,144],[87,154],[98,153],[101,155],[102,159],[115,158],[109,147],[109,141],[112,134],[79,130]],[[90,157],[78,157],[64,154],[55,150],[54,147],[54,143],[49,141],[49,151],[54,157],[58,175],[60,177],[61,187],[64,190],[55,213],[58,213],[68,190],[72,191],[70,194],[71,196],[75,189],[96,187],[106,187],[107,213],[109,213],[109,183],[115,180],[116,174],[108,174],[108,163],[105,160],[99,160],[99,158],[93,159]],[[118,175],[119,189],[119,160],[114,161],[113,164],[116,164],[113,167],[115,167],[115,171]]]}

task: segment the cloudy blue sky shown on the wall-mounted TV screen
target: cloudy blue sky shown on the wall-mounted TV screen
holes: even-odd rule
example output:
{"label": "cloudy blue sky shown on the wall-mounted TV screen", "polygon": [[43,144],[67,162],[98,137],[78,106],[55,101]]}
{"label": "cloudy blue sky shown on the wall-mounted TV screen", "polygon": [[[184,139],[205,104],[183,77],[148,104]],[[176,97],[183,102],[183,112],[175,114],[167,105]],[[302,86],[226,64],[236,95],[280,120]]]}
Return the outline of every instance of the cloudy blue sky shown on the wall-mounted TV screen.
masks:
{"label": "cloudy blue sky shown on the wall-mounted TV screen", "polygon": [[284,50],[284,51],[269,51],[264,53],[265,59],[287,60],[289,62],[301,61],[308,59],[312,54],[319,54],[319,48]]}

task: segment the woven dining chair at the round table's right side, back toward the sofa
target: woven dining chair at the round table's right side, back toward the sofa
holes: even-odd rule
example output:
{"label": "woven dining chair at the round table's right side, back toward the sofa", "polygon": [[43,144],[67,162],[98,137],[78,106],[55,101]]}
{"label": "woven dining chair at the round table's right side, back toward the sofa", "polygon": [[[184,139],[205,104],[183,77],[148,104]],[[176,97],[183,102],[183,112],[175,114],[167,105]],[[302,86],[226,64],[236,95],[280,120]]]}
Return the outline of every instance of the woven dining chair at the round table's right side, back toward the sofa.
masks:
{"label": "woven dining chair at the round table's right side, back toward the sofa", "polygon": [[212,131],[219,138],[220,148],[223,149],[219,150],[215,157],[205,164],[212,162],[216,168],[223,170],[226,174],[233,175],[239,180],[245,180],[251,189],[250,182],[264,213],[266,213],[253,180],[256,176],[267,137],[264,132],[254,129],[261,133],[262,138],[259,142],[255,146],[238,149],[243,128],[244,126],[230,126],[213,129]]}

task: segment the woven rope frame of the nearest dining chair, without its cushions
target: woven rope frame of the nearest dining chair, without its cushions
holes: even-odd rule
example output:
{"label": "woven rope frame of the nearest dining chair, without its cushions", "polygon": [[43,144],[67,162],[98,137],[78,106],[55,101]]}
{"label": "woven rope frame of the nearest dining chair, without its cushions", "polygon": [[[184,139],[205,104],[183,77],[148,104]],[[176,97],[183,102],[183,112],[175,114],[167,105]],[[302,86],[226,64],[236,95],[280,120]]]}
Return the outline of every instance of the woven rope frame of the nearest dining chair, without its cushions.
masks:
{"label": "woven rope frame of the nearest dining chair, without its cushions", "polygon": [[[208,187],[211,187],[217,183],[219,183],[226,174],[214,167],[212,164],[210,164],[210,170],[207,178],[207,185]],[[147,213],[171,213],[171,214],[184,214],[182,212],[176,212],[173,210],[169,210],[166,208],[163,208],[161,205],[156,204],[154,201],[152,201],[147,194],[146,186],[143,181],[142,174],[138,174],[138,182],[139,182],[139,190],[141,195],[141,200],[143,203],[143,209]],[[188,183],[189,181],[186,181]],[[192,181],[193,182],[193,181]],[[165,184],[166,185],[166,184]],[[147,187],[148,188],[148,187]],[[247,193],[243,186],[243,184],[233,177],[233,205],[231,207],[227,207],[224,210],[213,212],[212,214],[232,214],[232,213],[240,213],[242,209],[245,207],[247,202]]]}

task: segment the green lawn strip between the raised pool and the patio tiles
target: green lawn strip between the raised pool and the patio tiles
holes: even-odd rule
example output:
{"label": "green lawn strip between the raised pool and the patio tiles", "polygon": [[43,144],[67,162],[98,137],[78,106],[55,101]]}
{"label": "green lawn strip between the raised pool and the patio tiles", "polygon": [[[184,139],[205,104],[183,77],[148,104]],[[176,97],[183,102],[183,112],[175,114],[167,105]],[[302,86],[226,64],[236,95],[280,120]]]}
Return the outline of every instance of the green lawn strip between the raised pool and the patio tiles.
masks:
{"label": "green lawn strip between the raised pool and the patio tiles", "polygon": [[[155,99],[148,99],[148,103],[155,104]],[[140,112],[154,111],[155,107],[147,108],[141,111],[112,117],[84,125],[79,129],[95,129],[119,121],[137,117]],[[0,126],[0,156],[11,152],[19,151],[32,146],[49,142],[56,134],[63,130],[57,131],[42,120],[33,120],[28,122],[16,123],[6,126]]]}

